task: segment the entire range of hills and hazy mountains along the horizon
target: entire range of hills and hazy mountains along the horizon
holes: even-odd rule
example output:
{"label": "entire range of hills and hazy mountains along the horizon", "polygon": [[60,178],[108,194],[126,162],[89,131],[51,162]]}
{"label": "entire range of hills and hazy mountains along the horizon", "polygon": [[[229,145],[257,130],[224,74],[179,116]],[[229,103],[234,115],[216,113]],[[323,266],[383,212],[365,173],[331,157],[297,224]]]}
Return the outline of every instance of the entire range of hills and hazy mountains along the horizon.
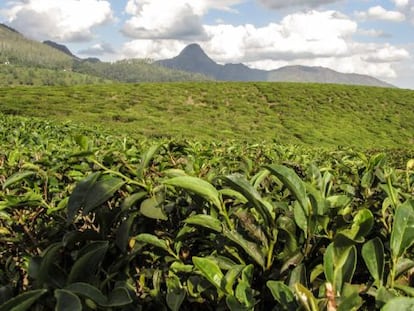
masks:
{"label": "entire range of hills and hazy mountains along the horizon", "polygon": [[316,82],[393,87],[367,75],[344,74],[323,67],[286,66],[259,70],[244,64],[221,65],[212,60],[198,44],[190,44],[171,59],[148,63],[121,60],[114,63],[81,59],[65,45],[27,39],[7,25],[0,24],[0,63],[19,66],[65,69],[121,82],[156,81],[270,81]]}

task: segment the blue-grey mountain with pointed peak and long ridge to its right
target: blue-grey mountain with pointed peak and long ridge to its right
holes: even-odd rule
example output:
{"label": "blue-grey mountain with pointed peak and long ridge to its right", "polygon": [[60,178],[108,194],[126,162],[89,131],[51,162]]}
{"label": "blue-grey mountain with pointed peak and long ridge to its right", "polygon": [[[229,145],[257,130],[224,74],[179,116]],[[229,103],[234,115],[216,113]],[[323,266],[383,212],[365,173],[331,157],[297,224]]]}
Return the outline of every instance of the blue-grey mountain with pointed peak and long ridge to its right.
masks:
{"label": "blue-grey mountain with pointed peak and long ridge to its right", "polygon": [[211,76],[221,81],[285,81],[394,87],[367,75],[346,74],[324,67],[286,66],[275,70],[252,69],[243,64],[217,64],[198,44],[186,46],[179,55],[157,61],[161,66]]}

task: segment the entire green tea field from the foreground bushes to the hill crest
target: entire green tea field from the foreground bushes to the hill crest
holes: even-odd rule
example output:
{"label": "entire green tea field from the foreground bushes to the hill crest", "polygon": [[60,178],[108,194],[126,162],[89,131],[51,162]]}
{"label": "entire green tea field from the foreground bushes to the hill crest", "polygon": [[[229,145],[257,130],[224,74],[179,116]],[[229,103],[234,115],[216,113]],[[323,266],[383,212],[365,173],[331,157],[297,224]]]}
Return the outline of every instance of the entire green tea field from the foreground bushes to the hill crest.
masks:
{"label": "entire green tea field from the foreground bushes to the hill crest", "polygon": [[413,92],[302,87],[0,89],[0,311],[411,310]]}

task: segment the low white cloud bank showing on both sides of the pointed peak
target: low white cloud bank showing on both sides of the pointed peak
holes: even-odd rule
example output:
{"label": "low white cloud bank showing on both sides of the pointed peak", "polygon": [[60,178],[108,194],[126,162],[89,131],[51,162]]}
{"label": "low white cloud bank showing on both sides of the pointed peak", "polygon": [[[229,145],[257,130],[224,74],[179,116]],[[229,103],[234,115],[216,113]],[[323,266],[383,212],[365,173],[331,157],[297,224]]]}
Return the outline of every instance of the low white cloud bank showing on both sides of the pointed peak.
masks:
{"label": "low white cloud bank showing on both sides of the pointed peak", "polygon": [[[356,42],[356,22],[337,11],[308,11],[285,16],[264,27],[204,25],[208,40],[199,42],[218,63],[242,62],[259,69],[286,65],[324,66],[379,78],[396,76],[395,65],[409,59],[404,48]],[[381,32],[369,31],[371,35]],[[186,40],[134,40],[124,45],[125,57],[165,59],[176,56]]]}

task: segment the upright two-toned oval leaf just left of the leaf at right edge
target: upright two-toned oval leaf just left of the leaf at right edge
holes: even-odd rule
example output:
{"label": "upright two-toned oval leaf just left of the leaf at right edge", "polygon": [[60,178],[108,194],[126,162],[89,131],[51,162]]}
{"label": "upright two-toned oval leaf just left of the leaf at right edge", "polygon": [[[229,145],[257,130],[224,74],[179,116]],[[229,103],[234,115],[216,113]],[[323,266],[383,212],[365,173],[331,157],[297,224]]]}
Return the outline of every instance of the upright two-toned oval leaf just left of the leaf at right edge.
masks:
{"label": "upright two-toned oval leaf just left of the leaf at right edge", "polygon": [[381,239],[376,237],[369,240],[362,246],[362,258],[374,278],[378,288],[382,286],[382,277],[384,274],[384,245]]}

